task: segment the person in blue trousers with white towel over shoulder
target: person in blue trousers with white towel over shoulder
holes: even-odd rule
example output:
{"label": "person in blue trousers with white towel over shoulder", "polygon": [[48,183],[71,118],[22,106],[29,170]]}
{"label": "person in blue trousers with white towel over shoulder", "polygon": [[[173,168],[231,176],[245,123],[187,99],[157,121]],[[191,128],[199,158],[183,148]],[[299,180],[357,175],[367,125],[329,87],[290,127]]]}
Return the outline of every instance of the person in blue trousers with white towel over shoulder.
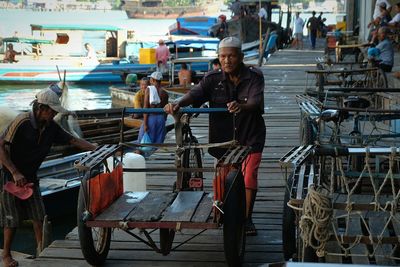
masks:
{"label": "person in blue trousers with white towel over shoulder", "polygon": [[[144,95],[144,108],[160,108],[168,103],[168,93],[161,88],[162,73],[155,71],[150,75],[150,86],[146,88]],[[143,123],[139,130],[140,142],[145,133],[150,137],[151,143],[164,143],[165,114],[143,114]]]}

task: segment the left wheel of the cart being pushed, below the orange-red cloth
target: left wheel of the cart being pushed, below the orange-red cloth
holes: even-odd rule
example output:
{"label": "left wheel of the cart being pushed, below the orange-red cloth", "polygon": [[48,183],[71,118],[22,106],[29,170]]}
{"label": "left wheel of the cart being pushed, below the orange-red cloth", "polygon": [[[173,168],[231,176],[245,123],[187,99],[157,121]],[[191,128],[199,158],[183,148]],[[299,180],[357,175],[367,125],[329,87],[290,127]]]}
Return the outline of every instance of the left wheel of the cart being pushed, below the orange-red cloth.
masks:
{"label": "left wheel of the cart being pushed, below the orange-red cloth", "polygon": [[84,192],[79,189],[78,197],[78,235],[81,250],[86,261],[91,265],[101,265],[107,258],[110,250],[111,228],[86,227]]}

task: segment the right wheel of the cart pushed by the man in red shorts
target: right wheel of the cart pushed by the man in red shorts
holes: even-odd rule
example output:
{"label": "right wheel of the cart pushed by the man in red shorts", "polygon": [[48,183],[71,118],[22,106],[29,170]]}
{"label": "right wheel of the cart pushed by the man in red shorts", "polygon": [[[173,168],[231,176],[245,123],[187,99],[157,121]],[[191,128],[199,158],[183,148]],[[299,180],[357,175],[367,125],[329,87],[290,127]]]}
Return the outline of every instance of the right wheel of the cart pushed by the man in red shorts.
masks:
{"label": "right wheel of the cart pushed by the man in red shorts", "polygon": [[224,250],[228,266],[241,266],[245,252],[246,195],[240,170],[228,173],[224,197]]}

